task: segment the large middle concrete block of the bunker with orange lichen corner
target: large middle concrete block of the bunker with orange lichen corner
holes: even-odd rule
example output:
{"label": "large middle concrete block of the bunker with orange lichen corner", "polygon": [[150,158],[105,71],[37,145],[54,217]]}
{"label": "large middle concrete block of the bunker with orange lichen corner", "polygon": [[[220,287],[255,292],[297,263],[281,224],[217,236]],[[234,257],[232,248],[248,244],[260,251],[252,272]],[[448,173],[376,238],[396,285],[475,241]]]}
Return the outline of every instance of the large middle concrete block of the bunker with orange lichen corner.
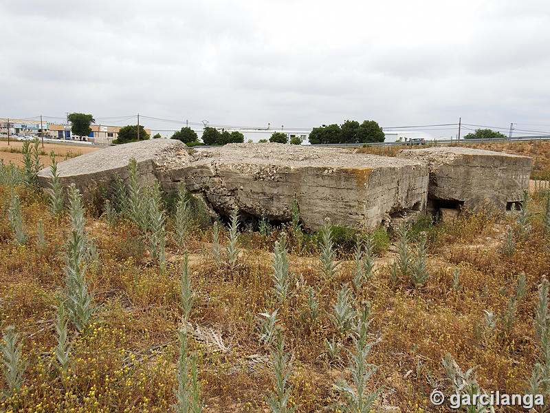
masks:
{"label": "large middle concrete block of the bunker with orange lichen corner", "polygon": [[201,148],[192,158],[159,179],[168,187],[183,180],[224,215],[236,206],[256,217],[265,211],[271,220],[290,220],[296,196],[306,229],[320,228],[325,217],[373,228],[395,211],[426,206],[428,170],[415,161],[282,144]]}

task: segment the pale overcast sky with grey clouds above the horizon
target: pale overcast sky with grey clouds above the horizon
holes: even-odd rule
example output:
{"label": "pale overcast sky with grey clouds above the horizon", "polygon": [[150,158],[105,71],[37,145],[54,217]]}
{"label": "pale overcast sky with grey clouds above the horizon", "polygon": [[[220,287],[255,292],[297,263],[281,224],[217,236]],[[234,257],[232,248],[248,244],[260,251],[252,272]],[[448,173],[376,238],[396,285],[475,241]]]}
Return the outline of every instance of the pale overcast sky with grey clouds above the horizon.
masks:
{"label": "pale overcast sky with grey clouds above the horizon", "polygon": [[550,131],[549,1],[0,0],[0,16],[0,117]]}

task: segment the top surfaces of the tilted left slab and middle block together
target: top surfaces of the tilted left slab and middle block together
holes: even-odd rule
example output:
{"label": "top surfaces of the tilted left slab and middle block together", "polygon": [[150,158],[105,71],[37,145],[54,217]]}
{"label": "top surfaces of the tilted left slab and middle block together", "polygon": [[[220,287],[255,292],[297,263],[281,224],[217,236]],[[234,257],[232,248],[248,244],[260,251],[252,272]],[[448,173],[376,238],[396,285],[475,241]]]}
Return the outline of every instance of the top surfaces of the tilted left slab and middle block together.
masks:
{"label": "top surfaces of the tilted left slab and middle block together", "polygon": [[[282,143],[240,143],[223,147],[195,147],[191,154],[179,140],[151,139],[108,147],[86,153],[58,164],[60,177],[93,176],[128,166],[134,158],[137,165],[151,160],[163,170],[209,165],[212,162],[257,167],[320,167],[334,169],[384,169],[419,166],[419,160],[353,153],[347,149],[318,148]],[[50,168],[39,172],[51,178]]]}

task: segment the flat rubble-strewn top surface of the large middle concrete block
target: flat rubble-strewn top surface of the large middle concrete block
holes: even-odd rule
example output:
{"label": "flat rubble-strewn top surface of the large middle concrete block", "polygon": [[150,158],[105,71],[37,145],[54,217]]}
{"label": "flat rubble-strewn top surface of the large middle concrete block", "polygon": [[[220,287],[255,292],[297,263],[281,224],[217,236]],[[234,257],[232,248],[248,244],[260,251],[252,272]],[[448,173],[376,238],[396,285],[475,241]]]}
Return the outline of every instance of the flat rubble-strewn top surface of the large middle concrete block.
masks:
{"label": "flat rubble-strewn top surface of the large middle concrete block", "polygon": [[421,165],[416,160],[353,153],[348,149],[283,143],[232,143],[223,147],[195,147],[193,163],[224,163],[281,167],[387,168]]}

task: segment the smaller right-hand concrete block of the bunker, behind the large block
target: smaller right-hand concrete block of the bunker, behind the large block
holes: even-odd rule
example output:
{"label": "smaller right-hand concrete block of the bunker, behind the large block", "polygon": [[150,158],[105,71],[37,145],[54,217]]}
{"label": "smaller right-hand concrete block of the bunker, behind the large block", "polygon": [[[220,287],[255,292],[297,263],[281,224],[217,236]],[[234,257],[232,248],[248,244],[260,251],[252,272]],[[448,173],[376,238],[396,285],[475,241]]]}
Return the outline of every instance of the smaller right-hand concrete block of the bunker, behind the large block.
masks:
{"label": "smaller right-hand concrete block of the bunker, behind the large block", "polygon": [[430,206],[448,200],[473,211],[484,204],[505,210],[529,188],[532,159],[527,156],[467,147],[403,149],[397,156],[428,165]]}

